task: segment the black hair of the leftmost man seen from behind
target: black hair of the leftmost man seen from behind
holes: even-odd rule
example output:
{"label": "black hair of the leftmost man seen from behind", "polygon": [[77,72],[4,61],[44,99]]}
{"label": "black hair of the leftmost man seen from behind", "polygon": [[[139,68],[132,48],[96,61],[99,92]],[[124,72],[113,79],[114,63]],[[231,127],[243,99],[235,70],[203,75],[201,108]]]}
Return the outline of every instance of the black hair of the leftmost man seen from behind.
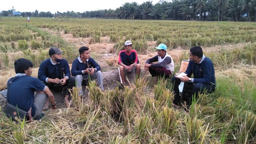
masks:
{"label": "black hair of the leftmost man seen from behind", "polygon": [[25,70],[28,70],[29,67],[33,67],[33,63],[26,58],[19,58],[14,62],[14,68],[16,74],[21,73],[24,74]]}

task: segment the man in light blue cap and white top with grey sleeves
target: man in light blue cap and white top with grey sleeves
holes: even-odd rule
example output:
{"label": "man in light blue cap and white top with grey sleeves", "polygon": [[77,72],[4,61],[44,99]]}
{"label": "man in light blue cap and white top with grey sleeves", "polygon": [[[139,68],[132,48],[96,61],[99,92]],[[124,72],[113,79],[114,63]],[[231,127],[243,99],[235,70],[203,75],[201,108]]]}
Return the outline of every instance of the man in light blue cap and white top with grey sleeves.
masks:
{"label": "man in light blue cap and white top with grey sleeves", "polygon": [[[159,44],[157,49],[157,55],[146,60],[144,70],[149,70],[152,77],[157,76],[169,78],[174,72],[174,62],[169,54],[166,54],[167,46],[165,44]],[[158,62],[153,64],[153,62]]]}

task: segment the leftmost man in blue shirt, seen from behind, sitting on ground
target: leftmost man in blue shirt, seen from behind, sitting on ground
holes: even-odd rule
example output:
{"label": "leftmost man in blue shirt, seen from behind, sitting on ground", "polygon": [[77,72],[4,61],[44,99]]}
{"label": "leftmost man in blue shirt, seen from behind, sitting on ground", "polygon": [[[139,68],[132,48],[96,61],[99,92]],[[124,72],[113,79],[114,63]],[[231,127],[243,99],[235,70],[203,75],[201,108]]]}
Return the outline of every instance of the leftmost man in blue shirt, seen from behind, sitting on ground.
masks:
{"label": "leftmost man in blue shirt, seen from behind, sitting on ground", "polygon": [[[8,88],[9,104],[28,112],[30,120],[40,118],[43,107],[48,107],[48,98],[52,108],[56,109],[55,99],[49,88],[38,78],[31,77],[32,67],[33,64],[30,60],[25,58],[15,60],[15,80],[8,80],[8,82],[13,80]],[[34,95],[34,92],[37,93]]]}

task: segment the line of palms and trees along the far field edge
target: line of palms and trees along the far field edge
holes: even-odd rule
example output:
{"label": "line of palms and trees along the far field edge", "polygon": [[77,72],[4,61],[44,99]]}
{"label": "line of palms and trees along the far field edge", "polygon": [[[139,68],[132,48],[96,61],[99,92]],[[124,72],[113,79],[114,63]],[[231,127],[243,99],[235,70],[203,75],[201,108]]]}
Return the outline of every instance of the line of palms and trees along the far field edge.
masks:
{"label": "line of palms and trees along the far field edge", "polygon": [[[1,12],[2,16],[12,10]],[[256,21],[256,0],[160,0],[126,2],[116,10],[94,10],[85,12],[21,12],[21,16],[68,17],[68,18],[112,18],[135,20],[207,20],[207,21]]]}

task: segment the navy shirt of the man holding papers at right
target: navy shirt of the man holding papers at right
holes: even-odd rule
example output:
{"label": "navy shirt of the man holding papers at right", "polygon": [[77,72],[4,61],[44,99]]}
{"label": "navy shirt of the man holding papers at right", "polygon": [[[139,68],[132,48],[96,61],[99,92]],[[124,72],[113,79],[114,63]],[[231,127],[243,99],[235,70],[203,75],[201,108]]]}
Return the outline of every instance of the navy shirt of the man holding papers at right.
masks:
{"label": "navy shirt of the man holding papers at right", "polygon": [[201,64],[189,61],[188,68],[185,72],[188,77],[194,75],[194,83],[202,83],[215,87],[215,72],[210,58],[205,58]]}

